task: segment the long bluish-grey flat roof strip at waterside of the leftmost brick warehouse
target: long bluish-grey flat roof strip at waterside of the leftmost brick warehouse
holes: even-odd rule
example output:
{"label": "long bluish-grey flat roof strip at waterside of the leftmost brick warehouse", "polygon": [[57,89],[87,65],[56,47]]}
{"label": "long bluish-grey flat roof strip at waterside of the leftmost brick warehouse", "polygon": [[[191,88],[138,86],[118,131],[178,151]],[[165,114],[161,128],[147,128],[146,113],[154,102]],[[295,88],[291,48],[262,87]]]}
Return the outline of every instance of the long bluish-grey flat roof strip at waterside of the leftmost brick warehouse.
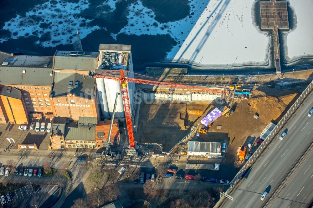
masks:
{"label": "long bluish-grey flat roof strip at waterside of the leftmost brick warehouse", "polygon": [[52,56],[22,56],[15,55],[8,57],[1,64],[10,67],[34,67],[34,68],[52,68]]}

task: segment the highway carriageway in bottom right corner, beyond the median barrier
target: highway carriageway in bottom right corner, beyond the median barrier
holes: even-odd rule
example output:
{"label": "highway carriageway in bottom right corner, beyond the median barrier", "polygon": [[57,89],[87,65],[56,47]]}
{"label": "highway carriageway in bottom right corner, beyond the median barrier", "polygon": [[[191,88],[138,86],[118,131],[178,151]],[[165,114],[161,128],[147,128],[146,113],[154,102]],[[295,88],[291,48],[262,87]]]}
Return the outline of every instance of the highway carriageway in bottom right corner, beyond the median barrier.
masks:
{"label": "highway carriageway in bottom right corner, beyond the median barrier", "polygon": [[308,207],[313,201],[313,151],[292,173],[270,207]]}

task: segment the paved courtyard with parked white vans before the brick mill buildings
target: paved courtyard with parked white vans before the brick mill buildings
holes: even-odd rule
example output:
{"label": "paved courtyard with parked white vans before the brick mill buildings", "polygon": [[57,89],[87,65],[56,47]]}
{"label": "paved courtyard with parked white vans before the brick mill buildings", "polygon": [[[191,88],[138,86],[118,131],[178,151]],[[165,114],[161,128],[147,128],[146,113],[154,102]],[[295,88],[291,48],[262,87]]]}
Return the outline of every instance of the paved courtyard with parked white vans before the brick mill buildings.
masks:
{"label": "paved courtyard with parked white vans before the brick mill buildings", "polygon": [[2,148],[16,148],[14,143],[10,143],[6,138],[13,138],[15,144],[36,144],[39,149],[48,149],[50,143],[50,134],[45,130],[44,132],[36,132],[35,130],[30,130],[31,122],[45,122],[46,128],[47,124],[51,122],[49,119],[33,119],[29,121],[27,130],[19,130],[17,124],[0,124],[0,147]]}

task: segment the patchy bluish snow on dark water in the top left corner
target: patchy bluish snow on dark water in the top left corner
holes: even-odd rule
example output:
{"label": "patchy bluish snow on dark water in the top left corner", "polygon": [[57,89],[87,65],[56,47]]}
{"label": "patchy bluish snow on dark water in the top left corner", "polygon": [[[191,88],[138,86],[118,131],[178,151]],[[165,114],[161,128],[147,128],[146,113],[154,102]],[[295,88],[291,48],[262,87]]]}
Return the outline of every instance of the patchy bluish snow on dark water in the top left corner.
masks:
{"label": "patchy bluish snow on dark water in the top left corner", "polygon": [[[25,17],[17,15],[17,17],[5,22],[3,29],[9,30],[12,33],[10,38],[13,39],[30,35],[38,36],[41,39],[36,43],[43,47],[71,44],[76,38],[71,36],[76,34],[77,29],[80,30],[81,38],[100,29],[98,26],[87,26],[87,23],[91,20],[75,17],[76,14],[80,14],[89,7],[87,0],[80,0],[78,3],[69,3],[63,0],[57,0],[56,2],[57,4],[45,2],[36,5],[31,11],[26,12]],[[108,3],[110,2],[112,1]],[[6,38],[0,38],[0,42],[7,40]]]}

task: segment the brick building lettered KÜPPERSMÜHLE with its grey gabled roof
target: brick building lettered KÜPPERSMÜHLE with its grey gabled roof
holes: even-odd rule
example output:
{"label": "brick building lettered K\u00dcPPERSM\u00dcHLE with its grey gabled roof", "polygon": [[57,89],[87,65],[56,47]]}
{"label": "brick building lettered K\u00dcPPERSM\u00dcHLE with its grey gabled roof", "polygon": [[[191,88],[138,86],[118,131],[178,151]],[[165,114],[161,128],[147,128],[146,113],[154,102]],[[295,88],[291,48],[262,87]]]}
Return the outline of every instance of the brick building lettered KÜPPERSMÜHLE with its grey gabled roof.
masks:
{"label": "brick building lettered K\u00dcPPERSM\u00dcHLE with its grey gabled roof", "polygon": [[55,73],[50,94],[55,116],[77,121],[80,116],[100,118],[95,79],[75,73]]}

